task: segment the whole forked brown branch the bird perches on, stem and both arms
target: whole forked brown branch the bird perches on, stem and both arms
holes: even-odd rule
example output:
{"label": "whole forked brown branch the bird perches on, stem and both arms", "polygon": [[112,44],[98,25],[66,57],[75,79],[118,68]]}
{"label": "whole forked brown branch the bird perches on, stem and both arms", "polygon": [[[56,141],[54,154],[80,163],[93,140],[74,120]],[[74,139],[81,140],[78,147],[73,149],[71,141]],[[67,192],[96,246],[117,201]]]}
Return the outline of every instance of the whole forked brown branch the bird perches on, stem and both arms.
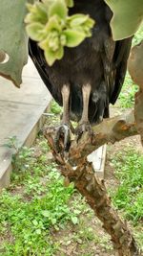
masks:
{"label": "whole forked brown branch the bird perches on, stem and both arms", "polygon": [[121,221],[117,212],[112,208],[103,180],[99,180],[87,162],[87,155],[101,145],[120,141],[128,136],[137,134],[134,124],[133,111],[107,119],[93,129],[93,135],[85,133],[80,141],[72,141],[69,159],[63,157],[54,149],[54,130],[45,130],[45,137],[51,146],[51,151],[59,165],[66,183],[74,182],[77,190],[86,198],[95,215],[103,222],[104,229],[111,235],[113,247],[118,256],[139,256],[133,235],[126,222]]}

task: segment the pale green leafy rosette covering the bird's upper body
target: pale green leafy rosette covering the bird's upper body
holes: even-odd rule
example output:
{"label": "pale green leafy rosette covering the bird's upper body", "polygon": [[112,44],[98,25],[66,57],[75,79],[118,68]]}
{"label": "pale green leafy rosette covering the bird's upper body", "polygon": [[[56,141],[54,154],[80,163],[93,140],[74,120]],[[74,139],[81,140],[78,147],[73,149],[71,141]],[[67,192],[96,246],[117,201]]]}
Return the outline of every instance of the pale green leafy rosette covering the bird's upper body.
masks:
{"label": "pale green leafy rosette covering the bird's upper body", "polygon": [[85,14],[69,16],[68,7],[72,5],[72,1],[65,0],[43,0],[27,5],[28,35],[38,41],[50,66],[56,59],[63,58],[65,46],[75,47],[92,35],[92,18]]}

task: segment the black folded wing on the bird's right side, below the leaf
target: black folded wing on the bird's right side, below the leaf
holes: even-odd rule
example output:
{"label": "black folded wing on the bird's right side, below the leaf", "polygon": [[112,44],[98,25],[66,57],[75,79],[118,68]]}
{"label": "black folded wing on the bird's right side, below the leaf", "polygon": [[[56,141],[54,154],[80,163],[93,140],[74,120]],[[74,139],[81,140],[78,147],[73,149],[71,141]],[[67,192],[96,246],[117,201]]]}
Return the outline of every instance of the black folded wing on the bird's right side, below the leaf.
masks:
{"label": "black folded wing on the bird's right side, below the leaf", "polygon": [[[114,43],[111,39],[108,44],[106,42],[104,47],[104,75],[109,90],[109,102],[112,105],[117,100],[125,79],[132,38],[129,37]],[[109,45],[111,46],[109,47]]]}

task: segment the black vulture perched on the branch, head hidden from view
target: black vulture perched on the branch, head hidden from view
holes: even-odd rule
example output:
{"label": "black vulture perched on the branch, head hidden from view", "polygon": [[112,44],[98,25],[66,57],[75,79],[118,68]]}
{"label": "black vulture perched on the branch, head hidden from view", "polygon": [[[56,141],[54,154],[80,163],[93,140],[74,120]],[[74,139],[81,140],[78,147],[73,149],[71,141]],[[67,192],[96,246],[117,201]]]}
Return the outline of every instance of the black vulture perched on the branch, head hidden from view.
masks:
{"label": "black vulture perched on the branch, head hidden from view", "polygon": [[75,0],[69,13],[89,14],[95,20],[92,36],[77,47],[65,47],[64,57],[52,66],[37,43],[29,40],[29,53],[41,79],[58,105],[63,105],[55,141],[63,137],[65,151],[70,147],[71,120],[78,122],[75,131],[81,136],[109,117],[109,105],[120,93],[132,44],[132,37],[113,41],[112,11],[104,0]]}

